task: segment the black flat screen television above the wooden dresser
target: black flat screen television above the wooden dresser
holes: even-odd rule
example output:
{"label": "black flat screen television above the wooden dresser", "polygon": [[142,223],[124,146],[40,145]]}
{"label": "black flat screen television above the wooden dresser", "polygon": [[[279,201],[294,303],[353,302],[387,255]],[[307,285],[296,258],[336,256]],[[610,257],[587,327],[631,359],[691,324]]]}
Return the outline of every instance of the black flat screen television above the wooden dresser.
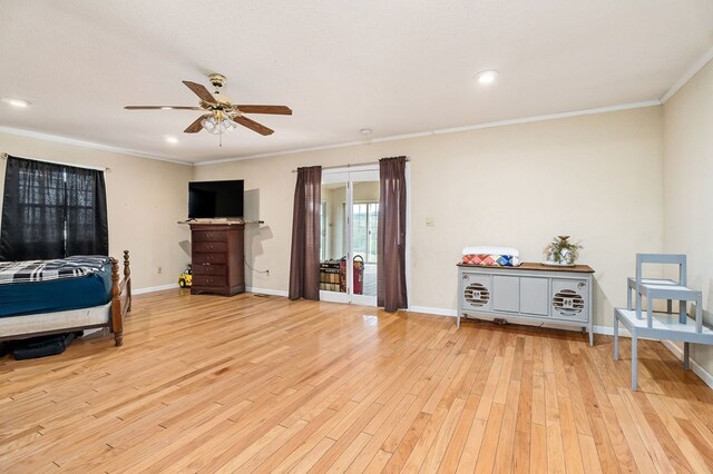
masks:
{"label": "black flat screen television above the wooden dresser", "polygon": [[188,218],[243,217],[243,180],[188,182]]}

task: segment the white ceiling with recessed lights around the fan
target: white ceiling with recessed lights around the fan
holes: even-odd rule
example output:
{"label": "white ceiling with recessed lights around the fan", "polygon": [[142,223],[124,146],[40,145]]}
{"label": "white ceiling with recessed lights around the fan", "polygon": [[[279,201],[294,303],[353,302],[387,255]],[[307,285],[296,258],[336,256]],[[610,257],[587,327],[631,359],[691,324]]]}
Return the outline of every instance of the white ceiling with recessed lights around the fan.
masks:
{"label": "white ceiling with recessed lights around the fan", "polygon": [[[712,45],[710,0],[0,0],[0,96],[33,102],[0,127],[199,162],[657,100]],[[123,109],[195,106],[211,72],[294,115],[221,148],[198,112]]]}

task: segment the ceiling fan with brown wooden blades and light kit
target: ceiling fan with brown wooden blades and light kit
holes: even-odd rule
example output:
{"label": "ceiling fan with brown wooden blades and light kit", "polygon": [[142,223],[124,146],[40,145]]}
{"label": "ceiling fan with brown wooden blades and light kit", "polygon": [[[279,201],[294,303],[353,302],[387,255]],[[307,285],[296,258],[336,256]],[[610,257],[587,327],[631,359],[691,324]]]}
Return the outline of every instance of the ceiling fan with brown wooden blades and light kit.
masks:
{"label": "ceiling fan with brown wooden blades and light kit", "polygon": [[197,134],[202,129],[215,135],[223,135],[233,131],[237,125],[247,127],[260,135],[272,135],[274,130],[265,127],[255,120],[248,119],[244,113],[272,113],[291,116],[292,110],[285,106],[245,106],[235,105],[227,96],[221,93],[219,89],[225,86],[226,78],[223,75],[213,73],[208,76],[211,83],[215,87],[215,92],[208,92],[203,85],[184,80],[183,83],[198,96],[201,102],[197,107],[186,106],[126,106],[127,110],[201,110],[205,113],[198,117],[184,131],[186,134]]}

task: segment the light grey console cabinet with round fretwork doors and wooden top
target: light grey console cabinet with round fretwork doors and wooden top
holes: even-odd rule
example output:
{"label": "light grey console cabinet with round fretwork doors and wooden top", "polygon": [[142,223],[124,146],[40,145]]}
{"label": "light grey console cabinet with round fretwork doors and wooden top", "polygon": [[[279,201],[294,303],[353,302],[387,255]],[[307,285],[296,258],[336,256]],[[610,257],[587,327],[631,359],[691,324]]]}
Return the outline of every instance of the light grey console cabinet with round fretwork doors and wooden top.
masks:
{"label": "light grey console cabinet with round fretwork doors and wooden top", "polygon": [[458,265],[460,319],[504,319],[508,323],[578,326],[592,333],[592,275],[587,265],[519,267]]}

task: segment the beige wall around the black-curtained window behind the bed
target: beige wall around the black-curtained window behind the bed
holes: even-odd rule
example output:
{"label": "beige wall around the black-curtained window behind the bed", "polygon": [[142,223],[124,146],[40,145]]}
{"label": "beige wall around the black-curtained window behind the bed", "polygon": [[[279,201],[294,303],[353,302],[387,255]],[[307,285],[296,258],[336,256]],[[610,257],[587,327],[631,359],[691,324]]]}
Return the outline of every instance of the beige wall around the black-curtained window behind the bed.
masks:
{"label": "beige wall around the black-curtained window behind the bed", "polygon": [[[189,233],[176,224],[186,218],[192,166],[137,158],[111,151],[0,134],[0,151],[77,166],[108,167],[105,175],[109,253],[131,255],[134,288],[175,284],[191,261],[184,250]],[[6,160],[0,160],[0,196]],[[158,274],[162,267],[162,274]]]}

